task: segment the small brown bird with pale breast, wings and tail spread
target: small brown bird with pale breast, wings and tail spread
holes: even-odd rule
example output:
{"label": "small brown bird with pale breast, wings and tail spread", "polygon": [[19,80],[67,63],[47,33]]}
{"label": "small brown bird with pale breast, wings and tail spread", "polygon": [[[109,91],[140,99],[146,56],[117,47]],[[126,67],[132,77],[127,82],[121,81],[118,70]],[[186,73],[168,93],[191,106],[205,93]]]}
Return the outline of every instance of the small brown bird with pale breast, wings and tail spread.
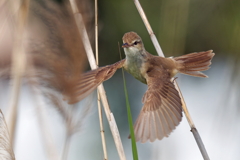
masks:
{"label": "small brown bird with pale breast, wings and tail spread", "polygon": [[143,107],[134,124],[136,141],[145,143],[168,137],[182,120],[182,102],[174,86],[174,76],[182,73],[207,77],[201,71],[210,68],[215,53],[208,50],[164,58],[147,52],[141,37],[135,32],[125,33],[122,40],[125,59],[84,73],[72,97],[68,97],[68,103],[84,99],[103,81],[111,78],[117,69],[124,68],[148,86],[142,98]]}

